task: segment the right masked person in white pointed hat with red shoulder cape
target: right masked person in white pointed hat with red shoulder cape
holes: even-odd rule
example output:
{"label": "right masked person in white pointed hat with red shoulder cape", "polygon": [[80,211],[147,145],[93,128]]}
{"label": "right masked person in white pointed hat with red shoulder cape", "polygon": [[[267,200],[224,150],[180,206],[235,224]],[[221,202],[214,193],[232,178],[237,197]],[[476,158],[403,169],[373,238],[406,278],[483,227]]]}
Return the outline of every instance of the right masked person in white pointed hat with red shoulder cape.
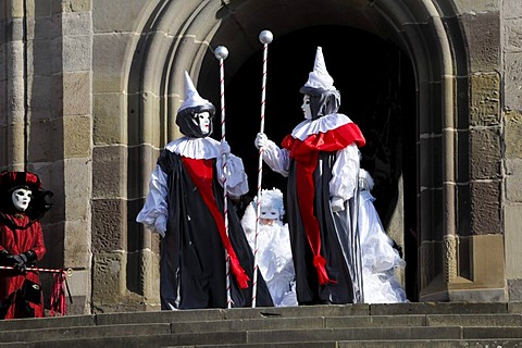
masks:
{"label": "right masked person in white pointed hat with red shoulder cape", "polygon": [[359,147],[364,137],[337,113],[340,95],[318,47],[301,87],[304,121],[282,142],[259,133],[263,161],[288,177],[287,212],[299,304],[363,302],[357,233]]}

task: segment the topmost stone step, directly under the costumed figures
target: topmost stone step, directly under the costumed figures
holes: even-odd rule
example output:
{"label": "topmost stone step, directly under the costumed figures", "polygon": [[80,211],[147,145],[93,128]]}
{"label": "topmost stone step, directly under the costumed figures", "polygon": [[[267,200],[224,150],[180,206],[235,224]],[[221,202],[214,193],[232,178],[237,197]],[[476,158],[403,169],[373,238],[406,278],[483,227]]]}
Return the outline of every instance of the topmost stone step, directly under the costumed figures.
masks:
{"label": "topmost stone step, directly under the costumed figures", "polygon": [[279,308],[202,309],[183,311],[150,311],[99,313],[91,315],[50,316],[0,321],[0,331],[71,327],[111,324],[176,323],[264,318],[302,316],[378,316],[378,315],[463,315],[463,314],[522,314],[522,302],[467,303],[422,302],[393,304],[325,304]]}

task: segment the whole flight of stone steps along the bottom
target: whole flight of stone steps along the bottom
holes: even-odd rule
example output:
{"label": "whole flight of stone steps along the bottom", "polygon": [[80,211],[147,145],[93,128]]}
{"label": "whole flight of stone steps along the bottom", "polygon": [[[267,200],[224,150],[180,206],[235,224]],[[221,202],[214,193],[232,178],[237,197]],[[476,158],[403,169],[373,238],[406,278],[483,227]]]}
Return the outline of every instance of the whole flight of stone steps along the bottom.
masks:
{"label": "whole flight of stone steps along the bottom", "polygon": [[522,347],[522,303],[422,302],[0,321],[0,347]]}

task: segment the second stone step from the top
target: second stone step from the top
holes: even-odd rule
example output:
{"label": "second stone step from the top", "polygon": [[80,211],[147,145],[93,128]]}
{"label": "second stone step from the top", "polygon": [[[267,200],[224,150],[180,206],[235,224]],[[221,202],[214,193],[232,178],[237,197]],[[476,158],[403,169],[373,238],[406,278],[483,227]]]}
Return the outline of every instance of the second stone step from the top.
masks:
{"label": "second stone step from the top", "polygon": [[[145,313],[144,313],[145,314]],[[125,315],[125,314],[124,314]],[[135,315],[133,315],[135,316]],[[139,315],[138,315],[139,316]],[[144,315],[147,316],[147,315]],[[160,315],[162,316],[162,315]],[[65,320],[66,319],[66,320]],[[0,341],[7,340],[5,337],[12,332],[39,332],[52,333],[62,328],[73,331],[78,330],[96,330],[108,331],[110,327],[137,327],[139,331],[159,331],[161,333],[164,327],[170,327],[169,333],[192,333],[192,332],[224,332],[224,331],[248,331],[248,330],[286,330],[299,327],[307,328],[350,328],[350,327],[386,327],[386,326],[497,326],[497,327],[522,327],[522,314],[399,314],[399,315],[355,315],[355,316],[270,316],[262,319],[216,319],[204,321],[165,321],[151,320],[144,321],[146,324],[138,324],[122,321],[117,323],[97,322],[96,316],[76,316],[76,318],[58,318],[41,320],[17,320],[9,321],[11,327],[3,327],[0,331]],[[48,325],[40,325],[47,321]],[[111,321],[112,322],[112,321]],[[30,327],[30,323],[35,326]],[[148,327],[147,325],[152,325]],[[8,325],[3,325],[8,326]],[[3,339],[1,339],[3,338]]]}

